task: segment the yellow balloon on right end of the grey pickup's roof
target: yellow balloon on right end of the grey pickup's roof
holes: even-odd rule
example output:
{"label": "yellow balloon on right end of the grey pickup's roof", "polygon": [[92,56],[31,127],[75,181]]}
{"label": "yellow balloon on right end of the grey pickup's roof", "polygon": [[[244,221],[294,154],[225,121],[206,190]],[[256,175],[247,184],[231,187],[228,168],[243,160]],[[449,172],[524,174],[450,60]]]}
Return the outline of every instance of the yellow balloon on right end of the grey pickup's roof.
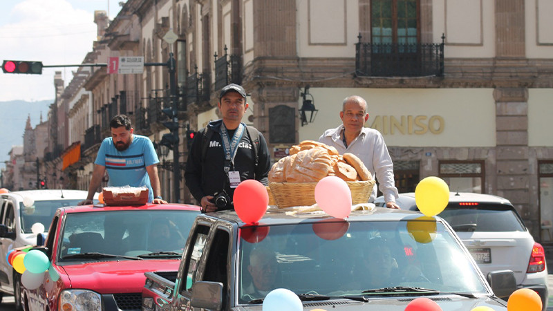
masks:
{"label": "yellow balloon on right end of the grey pickup's roof", "polygon": [[429,176],[415,188],[415,203],[425,216],[440,214],[449,202],[449,187],[442,178]]}

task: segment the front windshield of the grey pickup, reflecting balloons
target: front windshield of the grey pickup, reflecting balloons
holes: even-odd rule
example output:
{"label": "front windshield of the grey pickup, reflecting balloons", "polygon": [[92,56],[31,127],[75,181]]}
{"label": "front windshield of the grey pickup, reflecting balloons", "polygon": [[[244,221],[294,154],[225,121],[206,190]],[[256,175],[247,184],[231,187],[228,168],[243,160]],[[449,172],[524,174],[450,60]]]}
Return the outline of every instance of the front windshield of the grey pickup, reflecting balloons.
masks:
{"label": "front windshield of the grey pickup, reflecting balloons", "polygon": [[238,298],[259,302],[274,288],[326,296],[386,295],[397,287],[489,294],[452,233],[423,218],[241,228]]}

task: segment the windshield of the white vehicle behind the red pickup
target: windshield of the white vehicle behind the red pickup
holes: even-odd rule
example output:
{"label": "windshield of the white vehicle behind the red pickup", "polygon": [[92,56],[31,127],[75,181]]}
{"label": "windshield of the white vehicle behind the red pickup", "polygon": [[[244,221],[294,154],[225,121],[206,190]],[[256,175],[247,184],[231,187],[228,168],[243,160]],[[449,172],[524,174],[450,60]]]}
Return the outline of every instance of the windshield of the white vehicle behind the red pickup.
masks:
{"label": "windshield of the white vehicle behind the red pickup", "polygon": [[35,223],[41,223],[44,225],[45,231],[48,231],[50,223],[54,218],[56,209],[64,206],[77,205],[82,199],[75,200],[36,200],[32,206],[26,207],[23,202],[19,203],[19,209],[23,211],[21,213],[21,228],[26,234],[32,233],[31,227]]}

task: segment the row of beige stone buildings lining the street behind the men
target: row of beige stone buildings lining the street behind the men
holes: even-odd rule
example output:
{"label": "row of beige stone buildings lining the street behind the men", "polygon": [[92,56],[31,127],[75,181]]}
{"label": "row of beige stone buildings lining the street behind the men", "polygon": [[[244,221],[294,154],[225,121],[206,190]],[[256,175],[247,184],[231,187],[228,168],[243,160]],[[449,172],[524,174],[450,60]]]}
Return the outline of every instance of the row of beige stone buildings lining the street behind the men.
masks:
{"label": "row of beige stone buildings lining the street behind the men", "polygon": [[245,86],[245,121],[275,159],[337,126],[344,97],[361,95],[400,191],[440,176],[452,191],[503,196],[538,241],[553,243],[552,14],[549,0],[128,0],[113,21],[97,12],[98,39],[85,62],[144,57],[144,71],[91,68],[84,91],[69,96],[71,133],[57,144],[68,152],[84,140],[71,178],[86,189],[113,115],[130,115],[136,133],[160,146],[169,133],[162,109],[176,107],[180,169],[171,145],[159,147],[162,191],[194,202],[175,179],[187,156],[185,129],[218,118],[225,84]]}

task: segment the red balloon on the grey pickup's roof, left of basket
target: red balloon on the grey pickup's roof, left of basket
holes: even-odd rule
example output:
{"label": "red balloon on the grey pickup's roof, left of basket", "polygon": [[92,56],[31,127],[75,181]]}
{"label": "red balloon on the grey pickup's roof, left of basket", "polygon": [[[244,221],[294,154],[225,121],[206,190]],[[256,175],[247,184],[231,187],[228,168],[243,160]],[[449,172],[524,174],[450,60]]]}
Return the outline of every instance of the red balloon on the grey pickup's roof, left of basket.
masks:
{"label": "red balloon on the grey pickup's roof, left of basket", "polygon": [[244,180],[234,189],[234,210],[244,223],[257,223],[269,205],[269,194],[263,184],[254,179]]}

